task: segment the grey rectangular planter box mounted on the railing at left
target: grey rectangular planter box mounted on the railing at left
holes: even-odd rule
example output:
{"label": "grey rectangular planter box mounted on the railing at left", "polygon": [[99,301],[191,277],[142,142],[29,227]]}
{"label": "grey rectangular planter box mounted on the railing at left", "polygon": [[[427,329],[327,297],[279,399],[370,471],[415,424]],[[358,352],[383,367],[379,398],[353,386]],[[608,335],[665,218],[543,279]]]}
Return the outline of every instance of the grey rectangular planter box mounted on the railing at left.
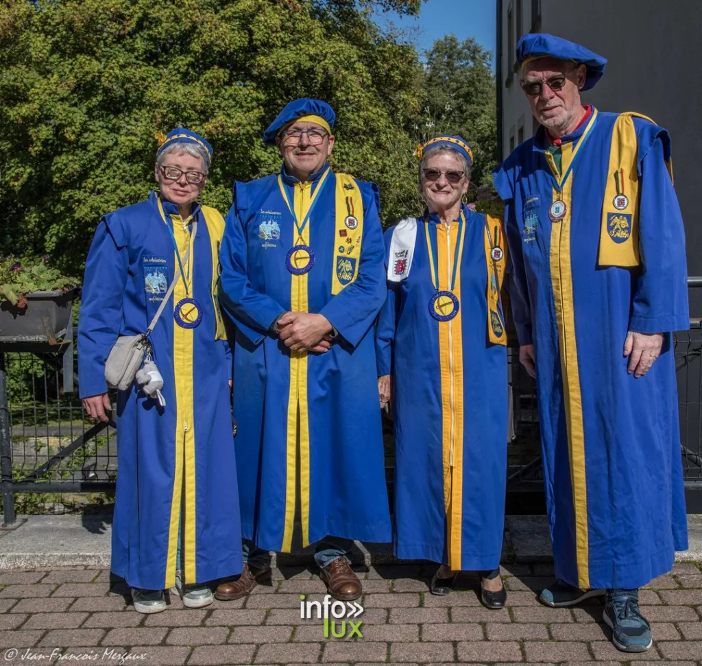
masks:
{"label": "grey rectangular planter box mounted on the railing at left", "polygon": [[27,307],[15,308],[8,301],[0,303],[0,343],[45,342],[56,344],[71,322],[71,303],[76,289],[63,292],[25,294]]}

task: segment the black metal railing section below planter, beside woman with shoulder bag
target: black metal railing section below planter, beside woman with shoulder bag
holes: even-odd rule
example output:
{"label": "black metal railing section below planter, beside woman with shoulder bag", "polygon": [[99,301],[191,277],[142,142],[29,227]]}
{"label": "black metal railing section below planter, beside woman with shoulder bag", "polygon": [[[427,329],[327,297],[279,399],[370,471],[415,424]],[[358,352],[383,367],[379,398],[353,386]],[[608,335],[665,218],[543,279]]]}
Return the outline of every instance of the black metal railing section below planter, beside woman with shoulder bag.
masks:
{"label": "black metal railing section below planter, beside woman with shoulder bag", "polygon": [[53,493],[113,491],[116,428],[114,421],[96,424],[83,410],[72,332],[67,341],[51,348],[0,343],[4,523],[15,520],[16,493],[41,493],[47,500]]}

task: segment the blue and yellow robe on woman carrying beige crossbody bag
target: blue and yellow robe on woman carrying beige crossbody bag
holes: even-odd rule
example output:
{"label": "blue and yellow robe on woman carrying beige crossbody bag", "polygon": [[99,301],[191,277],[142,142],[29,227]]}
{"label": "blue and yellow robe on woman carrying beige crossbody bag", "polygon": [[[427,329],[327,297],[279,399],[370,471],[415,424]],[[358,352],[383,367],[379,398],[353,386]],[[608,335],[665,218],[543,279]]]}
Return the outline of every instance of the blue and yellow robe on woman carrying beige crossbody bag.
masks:
{"label": "blue and yellow robe on woman carrying beige crossbody bag", "polygon": [[[227,341],[215,339],[222,329],[214,288],[223,219],[211,210],[208,223],[196,206],[197,234],[190,242],[192,223],[184,229],[178,207],[165,201],[163,207],[181,258],[192,246],[185,273],[203,316],[192,329],[173,320],[173,304],[185,298],[180,278],[150,335],[166,406],[135,386],[117,394],[111,568],[129,585],[145,589],[175,584],[179,521],[185,582],[241,572],[228,385],[232,361]],[[86,262],[78,325],[81,397],[107,391],[110,348],[119,335],[146,332],[177,266],[155,192],[102,218]]]}

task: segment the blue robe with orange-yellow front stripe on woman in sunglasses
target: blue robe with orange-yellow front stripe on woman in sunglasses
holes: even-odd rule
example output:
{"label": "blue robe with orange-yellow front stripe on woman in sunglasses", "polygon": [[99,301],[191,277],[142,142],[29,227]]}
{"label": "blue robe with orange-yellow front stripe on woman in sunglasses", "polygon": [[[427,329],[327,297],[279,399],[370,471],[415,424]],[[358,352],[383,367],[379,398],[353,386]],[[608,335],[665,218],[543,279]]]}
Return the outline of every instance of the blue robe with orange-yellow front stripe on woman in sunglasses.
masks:
{"label": "blue robe with orange-yellow front stripe on woman in sunglasses", "polygon": [[[409,275],[388,281],[378,318],[378,376],[392,374],[395,554],[454,570],[492,570],[500,563],[505,514],[507,349],[491,344],[486,332],[492,273],[484,249],[485,216],[463,211],[462,242],[458,222],[449,232],[436,215],[427,223],[437,235],[439,289],[449,289],[461,244],[453,292],[458,314],[445,322],[430,314],[435,288],[424,218],[417,218]],[[391,269],[398,261],[390,256],[393,233],[395,227],[385,233]],[[506,263],[506,254],[500,261]]]}

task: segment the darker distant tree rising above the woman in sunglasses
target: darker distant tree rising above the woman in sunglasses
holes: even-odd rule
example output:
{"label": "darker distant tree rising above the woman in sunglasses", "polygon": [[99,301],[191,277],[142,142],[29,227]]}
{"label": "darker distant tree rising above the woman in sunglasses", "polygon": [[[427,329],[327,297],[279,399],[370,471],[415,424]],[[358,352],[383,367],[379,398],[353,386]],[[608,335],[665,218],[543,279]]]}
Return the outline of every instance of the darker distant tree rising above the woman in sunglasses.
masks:
{"label": "darker distant tree rising above the woman in sunglasses", "polygon": [[[437,39],[427,55],[418,129],[463,136],[473,151],[472,183],[491,185],[496,164],[497,115],[491,53],[469,38]],[[428,124],[434,124],[432,128]]]}

